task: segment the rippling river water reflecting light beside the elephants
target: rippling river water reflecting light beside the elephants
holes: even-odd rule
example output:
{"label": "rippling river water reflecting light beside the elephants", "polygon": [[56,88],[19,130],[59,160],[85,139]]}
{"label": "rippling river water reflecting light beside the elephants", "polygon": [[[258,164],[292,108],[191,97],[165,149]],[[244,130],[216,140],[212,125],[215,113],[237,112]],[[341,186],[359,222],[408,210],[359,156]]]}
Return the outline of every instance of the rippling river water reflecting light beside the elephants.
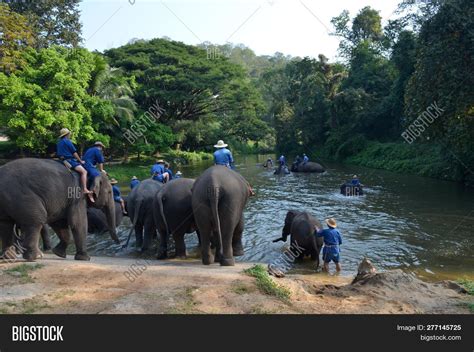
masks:
{"label": "rippling river water reflecting light beside the elephants", "polygon": [[[245,255],[238,261],[270,263],[288,247],[272,243],[281,235],[286,212],[308,211],[317,219],[334,217],[343,235],[342,274],[357,271],[366,256],[379,269],[401,268],[427,280],[474,278],[474,189],[452,182],[325,163],[323,174],[275,176],[261,166],[266,155],[239,156],[236,169],[257,192],[245,210]],[[184,177],[197,177],[210,164],[183,166]],[[362,197],[345,197],[339,186],[353,174],[365,185]],[[123,190],[126,191],[127,185]],[[126,219],[120,227],[125,240]],[[90,236],[91,254],[134,256],[108,237]],[[186,236],[191,255],[196,235]],[[307,260],[296,271],[312,272]]]}

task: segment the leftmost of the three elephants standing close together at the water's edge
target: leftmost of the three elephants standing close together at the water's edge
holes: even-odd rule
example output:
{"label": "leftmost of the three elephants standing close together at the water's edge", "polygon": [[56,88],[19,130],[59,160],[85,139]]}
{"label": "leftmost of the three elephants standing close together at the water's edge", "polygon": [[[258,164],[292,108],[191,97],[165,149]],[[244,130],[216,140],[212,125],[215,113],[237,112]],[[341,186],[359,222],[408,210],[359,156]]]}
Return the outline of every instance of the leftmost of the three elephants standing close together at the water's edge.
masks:
{"label": "leftmost of the three elephants standing close together at the water's edge", "polygon": [[[161,187],[163,187],[161,182],[147,179],[133,188],[127,198],[127,211],[135,230],[136,246],[141,247],[142,252],[149,248],[151,241],[156,236],[153,200]],[[128,240],[130,240],[131,234],[132,231],[130,231]]]}

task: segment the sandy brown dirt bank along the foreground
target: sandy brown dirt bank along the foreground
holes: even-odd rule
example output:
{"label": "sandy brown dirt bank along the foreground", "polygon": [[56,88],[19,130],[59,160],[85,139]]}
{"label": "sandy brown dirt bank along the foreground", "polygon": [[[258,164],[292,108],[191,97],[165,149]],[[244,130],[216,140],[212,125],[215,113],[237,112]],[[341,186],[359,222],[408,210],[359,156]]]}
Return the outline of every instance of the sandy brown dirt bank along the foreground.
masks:
{"label": "sandy brown dirt bank along the foreground", "polygon": [[262,293],[255,278],[243,273],[253,264],[150,261],[133,280],[128,270],[134,264],[136,272],[145,267],[135,259],[78,262],[52,255],[37,263],[1,264],[0,313],[469,313],[469,297],[456,287],[398,270],[354,285],[352,278],[326,274],[273,279],[290,292],[282,300]]}

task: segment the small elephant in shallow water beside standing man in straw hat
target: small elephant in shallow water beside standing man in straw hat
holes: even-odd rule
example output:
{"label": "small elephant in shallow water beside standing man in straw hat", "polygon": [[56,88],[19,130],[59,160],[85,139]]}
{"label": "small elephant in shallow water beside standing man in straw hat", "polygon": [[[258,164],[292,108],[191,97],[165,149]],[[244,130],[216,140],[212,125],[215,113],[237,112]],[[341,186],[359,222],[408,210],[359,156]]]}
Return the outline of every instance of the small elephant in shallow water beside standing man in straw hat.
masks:
{"label": "small elephant in shallow water beside standing man in straw hat", "polygon": [[305,256],[310,256],[312,260],[316,261],[316,268],[318,268],[323,238],[314,236],[315,225],[322,228],[321,223],[311,214],[290,210],[286,214],[281,237],[273,240],[273,242],[286,242],[288,235],[291,235],[291,252],[298,254],[298,260],[303,260]]}

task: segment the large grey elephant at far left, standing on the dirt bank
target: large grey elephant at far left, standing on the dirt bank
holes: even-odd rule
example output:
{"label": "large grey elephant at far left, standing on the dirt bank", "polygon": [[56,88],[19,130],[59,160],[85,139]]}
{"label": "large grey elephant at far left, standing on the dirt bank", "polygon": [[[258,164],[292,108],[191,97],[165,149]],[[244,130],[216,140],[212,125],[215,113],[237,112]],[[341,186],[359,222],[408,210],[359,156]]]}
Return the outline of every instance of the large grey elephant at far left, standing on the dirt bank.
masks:
{"label": "large grey elephant at far left, standing on the dirt bank", "polygon": [[[79,175],[55,160],[25,158],[0,168],[0,233],[3,247],[13,245],[14,225],[23,233],[23,258],[34,261],[42,227],[49,224],[59,237],[53,253],[66,258],[71,232],[76,245],[76,260],[90,260],[87,254],[87,200],[80,187]],[[94,207],[104,209],[115,232],[112,186],[106,175],[94,179]]]}

